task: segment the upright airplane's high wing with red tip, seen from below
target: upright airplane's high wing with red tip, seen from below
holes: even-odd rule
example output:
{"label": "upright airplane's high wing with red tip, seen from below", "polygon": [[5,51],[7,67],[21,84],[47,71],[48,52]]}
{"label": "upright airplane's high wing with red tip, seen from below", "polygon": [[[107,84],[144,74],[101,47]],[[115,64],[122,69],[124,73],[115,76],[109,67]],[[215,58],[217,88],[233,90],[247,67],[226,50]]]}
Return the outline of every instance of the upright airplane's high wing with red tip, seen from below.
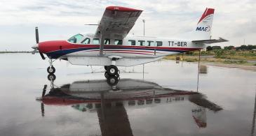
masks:
{"label": "upright airplane's high wing with red tip, seen from below", "polygon": [[95,37],[125,38],[141,13],[142,10],[133,8],[121,6],[107,7],[97,27]]}

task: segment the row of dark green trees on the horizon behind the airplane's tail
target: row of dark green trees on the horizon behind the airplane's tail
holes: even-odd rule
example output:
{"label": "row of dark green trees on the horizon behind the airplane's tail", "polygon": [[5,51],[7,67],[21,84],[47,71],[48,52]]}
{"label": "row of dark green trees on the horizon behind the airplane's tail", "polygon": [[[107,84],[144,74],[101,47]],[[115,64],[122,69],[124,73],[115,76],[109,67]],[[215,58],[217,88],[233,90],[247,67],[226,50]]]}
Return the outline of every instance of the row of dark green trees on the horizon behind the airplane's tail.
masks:
{"label": "row of dark green trees on the horizon behind the airplane's tail", "polygon": [[[210,51],[210,50],[221,50],[222,47],[220,46],[208,46],[206,47],[206,50],[207,51]],[[225,46],[223,48],[224,50],[241,50],[241,51],[245,51],[245,50],[253,50],[253,49],[256,49],[256,45],[241,45],[239,47],[234,47],[233,45],[229,45],[229,46]]]}

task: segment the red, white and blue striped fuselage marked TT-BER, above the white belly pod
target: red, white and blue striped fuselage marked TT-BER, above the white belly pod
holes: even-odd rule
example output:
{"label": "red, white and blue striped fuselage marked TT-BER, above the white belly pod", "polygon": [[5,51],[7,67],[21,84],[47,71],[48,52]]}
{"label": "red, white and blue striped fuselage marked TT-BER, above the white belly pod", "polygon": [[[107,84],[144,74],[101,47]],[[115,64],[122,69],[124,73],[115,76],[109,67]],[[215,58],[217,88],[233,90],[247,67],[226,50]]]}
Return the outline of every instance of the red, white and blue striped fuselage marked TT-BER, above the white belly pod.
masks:
{"label": "red, white and blue striped fuselage marked TT-BER, above the white belly pod", "polygon": [[[123,40],[105,39],[104,43],[104,56],[121,56],[129,59],[154,59],[205,47],[205,45],[196,45],[190,40],[149,36],[126,36]],[[90,34],[76,34],[69,40],[39,43],[39,51],[50,59],[67,59],[74,56],[97,57],[100,52],[100,38]]]}

